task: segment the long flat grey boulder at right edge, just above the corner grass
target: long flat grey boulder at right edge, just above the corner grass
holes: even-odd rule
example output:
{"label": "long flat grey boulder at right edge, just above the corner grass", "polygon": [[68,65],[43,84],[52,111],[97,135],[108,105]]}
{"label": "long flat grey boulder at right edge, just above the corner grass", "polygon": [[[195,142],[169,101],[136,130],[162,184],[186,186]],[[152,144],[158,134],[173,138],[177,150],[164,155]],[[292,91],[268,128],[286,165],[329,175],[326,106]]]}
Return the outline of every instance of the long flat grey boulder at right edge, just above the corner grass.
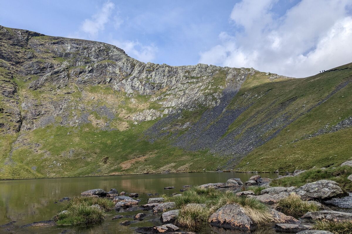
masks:
{"label": "long flat grey boulder at right edge, just above the corner grass", "polygon": [[339,212],[335,210],[319,210],[308,212],[302,216],[306,220],[328,220],[334,222],[352,222],[352,213]]}

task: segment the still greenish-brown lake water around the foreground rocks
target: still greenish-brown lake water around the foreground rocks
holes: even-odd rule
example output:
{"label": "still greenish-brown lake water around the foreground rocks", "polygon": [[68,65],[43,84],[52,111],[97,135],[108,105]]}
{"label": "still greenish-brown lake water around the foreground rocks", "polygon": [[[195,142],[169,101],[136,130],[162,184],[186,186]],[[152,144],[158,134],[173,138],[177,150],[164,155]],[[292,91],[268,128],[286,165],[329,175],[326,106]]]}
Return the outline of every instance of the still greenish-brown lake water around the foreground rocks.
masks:
{"label": "still greenish-brown lake water around the foreground rocks", "polygon": [[[202,185],[205,183],[226,182],[230,178],[240,178],[247,181],[252,173],[179,173],[179,174],[146,174],[146,175],[116,175],[116,176],[92,176],[74,178],[49,178],[49,179],[24,179],[0,181],[0,233],[26,233],[26,234],[59,234],[59,233],[82,233],[82,234],[131,234],[140,226],[158,226],[160,215],[151,212],[137,210],[134,212],[117,212],[113,210],[107,216],[106,221],[93,229],[77,229],[69,227],[21,227],[36,221],[51,219],[66,201],[58,200],[64,197],[80,195],[81,192],[94,188],[109,191],[116,188],[118,192],[138,193],[141,201],[139,205],[147,203],[146,193],[172,194],[180,193],[183,185]],[[275,173],[260,173],[262,177],[276,178]],[[175,189],[164,190],[164,187],[174,186]],[[127,194],[128,195],[128,194]],[[57,202],[56,204],[54,202]],[[137,213],[149,215],[141,222],[130,226],[121,226],[125,220],[111,220],[114,215],[134,215]],[[13,225],[1,227],[8,222],[16,221]],[[67,230],[67,231],[66,231]],[[268,232],[269,233],[269,232]],[[271,232],[270,232],[271,233]]]}

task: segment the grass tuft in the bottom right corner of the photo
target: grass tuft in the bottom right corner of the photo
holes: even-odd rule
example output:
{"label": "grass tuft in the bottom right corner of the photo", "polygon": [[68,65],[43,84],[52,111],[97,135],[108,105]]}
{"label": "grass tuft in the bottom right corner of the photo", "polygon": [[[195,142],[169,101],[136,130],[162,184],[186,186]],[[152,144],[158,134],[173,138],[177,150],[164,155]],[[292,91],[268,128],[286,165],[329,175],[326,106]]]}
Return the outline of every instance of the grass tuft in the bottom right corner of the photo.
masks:
{"label": "grass tuft in the bottom right corner of the photo", "polygon": [[334,234],[352,234],[352,222],[315,221],[315,230],[325,230]]}

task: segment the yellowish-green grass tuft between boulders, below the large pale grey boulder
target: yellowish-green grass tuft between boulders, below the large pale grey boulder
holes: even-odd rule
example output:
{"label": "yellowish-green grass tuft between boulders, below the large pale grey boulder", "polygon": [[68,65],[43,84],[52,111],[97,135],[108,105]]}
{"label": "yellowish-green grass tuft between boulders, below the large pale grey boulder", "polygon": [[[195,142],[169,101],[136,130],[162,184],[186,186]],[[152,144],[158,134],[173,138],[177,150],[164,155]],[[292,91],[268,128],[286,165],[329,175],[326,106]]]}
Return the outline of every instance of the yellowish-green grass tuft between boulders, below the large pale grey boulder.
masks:
{"label": "yellowish-green grass tuft between boulders, below the large pale grey boulder", "polygon": [[317,211],[320,207],[314,203],[302,201],[301,197],[291,193],[287,198],[283,198],[275,205],[275,209],[286,214],[299,218],[307,212]]}

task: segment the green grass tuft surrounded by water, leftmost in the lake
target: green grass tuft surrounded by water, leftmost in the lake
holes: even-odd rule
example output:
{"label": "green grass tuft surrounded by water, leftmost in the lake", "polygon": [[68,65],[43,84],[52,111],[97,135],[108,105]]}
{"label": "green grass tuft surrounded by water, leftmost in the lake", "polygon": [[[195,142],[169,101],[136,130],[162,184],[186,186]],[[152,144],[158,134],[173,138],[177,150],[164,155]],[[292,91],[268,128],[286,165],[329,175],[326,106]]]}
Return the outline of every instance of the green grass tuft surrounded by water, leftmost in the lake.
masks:
{"label": "green grass tuft surrounded by water, leftmost in the lake", "polygon": [[[101,209],[92,206],[96,204]],[[59,226],[94,225],[103,222],[106,211],[113,206],[113,201],[106,198],[75,197],[61,209],[67,212],[59,212],[54,220]]]}

